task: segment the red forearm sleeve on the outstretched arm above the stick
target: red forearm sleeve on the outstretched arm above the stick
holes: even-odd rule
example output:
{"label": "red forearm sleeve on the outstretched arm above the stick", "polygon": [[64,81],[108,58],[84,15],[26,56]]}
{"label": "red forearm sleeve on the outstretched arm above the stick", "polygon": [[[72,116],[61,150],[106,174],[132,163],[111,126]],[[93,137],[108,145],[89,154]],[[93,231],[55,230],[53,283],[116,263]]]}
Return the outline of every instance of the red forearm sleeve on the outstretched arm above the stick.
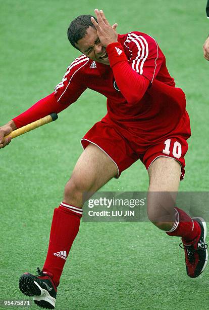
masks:
{"label": "red forearm sleeve on the outstretched arm above the stick", "polygon": [[31,106],[27,111],[18,115],[13,119],[17,128],[23,127],[27,124],[35,122],[46,115],[56,112],[59,113],[66,109],[70,104],[60,104],[55,98],[55,93],[48,95],[47,97],[39,100],[33,106]]}

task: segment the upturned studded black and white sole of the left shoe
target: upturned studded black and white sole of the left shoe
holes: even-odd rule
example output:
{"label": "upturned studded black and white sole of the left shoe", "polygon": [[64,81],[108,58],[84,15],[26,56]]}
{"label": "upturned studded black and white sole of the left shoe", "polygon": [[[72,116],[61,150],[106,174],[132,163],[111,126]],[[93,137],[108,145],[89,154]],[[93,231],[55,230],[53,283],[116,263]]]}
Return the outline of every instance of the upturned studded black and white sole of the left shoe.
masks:
{"label": "upturned studded black and white sole of the left shoe", "polygon": [[41,308],[54,309],[56,299],[42,289],[30,275],[23,275],[19,280],[19,289],[24,295],[33,296],[33,301]]}

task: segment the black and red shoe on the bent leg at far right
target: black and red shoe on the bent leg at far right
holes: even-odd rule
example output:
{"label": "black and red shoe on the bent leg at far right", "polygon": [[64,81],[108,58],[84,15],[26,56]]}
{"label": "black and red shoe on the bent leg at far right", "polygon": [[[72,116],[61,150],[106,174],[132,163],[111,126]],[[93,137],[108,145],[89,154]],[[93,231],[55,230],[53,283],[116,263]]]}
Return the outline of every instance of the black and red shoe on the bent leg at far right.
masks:
{"label": "black and red shoe on the bent leg at far right", "polygon": [[186,243],[182,240],[179,245],[185,252],[186,272],[190,278],[198,277],[206,267],[208,253],[206,239],[206,223],[201,217],[194,217],[194,221],[198,222],[201,228],[200,235]]}

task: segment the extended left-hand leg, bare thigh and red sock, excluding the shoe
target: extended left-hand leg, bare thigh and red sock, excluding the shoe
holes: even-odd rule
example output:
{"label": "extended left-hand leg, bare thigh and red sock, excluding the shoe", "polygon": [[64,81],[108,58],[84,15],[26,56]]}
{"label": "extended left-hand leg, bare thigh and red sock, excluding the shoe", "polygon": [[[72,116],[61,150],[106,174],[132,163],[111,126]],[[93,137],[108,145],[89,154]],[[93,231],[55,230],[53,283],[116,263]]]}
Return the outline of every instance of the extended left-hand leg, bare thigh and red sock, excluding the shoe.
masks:
{"label": "extended left-hand leg, bare thigh and red sock, excluding the shoe", "polygon": [[84,200],[117,173],[115,163],[94,144],[90,143],[78,159],[65,186],[64,201],[54,211],[49,248],[43,267],[44,272],[53,274],[56,286],[59,285],[66,258],[79,230]]}

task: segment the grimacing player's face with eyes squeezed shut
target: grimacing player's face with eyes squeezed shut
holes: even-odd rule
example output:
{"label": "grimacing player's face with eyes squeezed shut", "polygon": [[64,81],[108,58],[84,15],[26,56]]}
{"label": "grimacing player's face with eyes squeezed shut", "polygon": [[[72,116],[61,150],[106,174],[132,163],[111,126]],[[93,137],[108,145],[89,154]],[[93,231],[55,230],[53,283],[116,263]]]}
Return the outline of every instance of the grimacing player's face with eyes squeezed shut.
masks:
{"label": "grimacing player's face with eyes squeezed shut", "polygon": [[106,48],[100,43],[96,29],[93,27],[88,27],[87,34],[75,45],[90,59],[110,65]]}

